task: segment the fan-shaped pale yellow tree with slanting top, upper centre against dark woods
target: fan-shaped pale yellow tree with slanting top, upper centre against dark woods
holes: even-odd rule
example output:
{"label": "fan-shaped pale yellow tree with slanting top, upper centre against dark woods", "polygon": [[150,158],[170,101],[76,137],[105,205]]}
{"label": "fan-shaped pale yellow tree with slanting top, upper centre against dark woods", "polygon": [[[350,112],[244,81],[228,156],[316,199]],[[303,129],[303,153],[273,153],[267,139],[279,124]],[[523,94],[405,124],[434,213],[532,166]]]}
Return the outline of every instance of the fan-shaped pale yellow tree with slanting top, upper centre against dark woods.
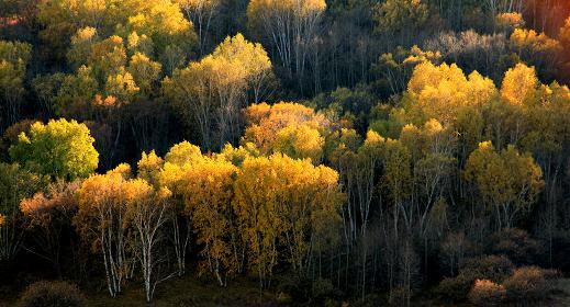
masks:
{"label": "fan-shaped pale yellow tree with slanting top, upper centre against dark woods", "polygon": [[247,92],[262,83],[270,70],[261,45],[237,34],[227,37],[212,55],[177,70],[163,87],[182,114],[190,111],[194,117],[202,148],[222,148],[226,141],[237,143],[239,111],[247,105]]}

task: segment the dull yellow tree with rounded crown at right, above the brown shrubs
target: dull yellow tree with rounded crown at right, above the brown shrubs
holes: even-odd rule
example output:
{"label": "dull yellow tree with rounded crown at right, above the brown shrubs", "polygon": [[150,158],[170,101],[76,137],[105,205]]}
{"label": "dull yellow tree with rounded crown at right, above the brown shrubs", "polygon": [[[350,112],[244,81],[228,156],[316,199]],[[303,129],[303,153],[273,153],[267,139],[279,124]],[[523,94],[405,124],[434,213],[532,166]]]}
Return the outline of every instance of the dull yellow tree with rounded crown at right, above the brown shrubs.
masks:
{"label": "dull yellow tree with rounded crown at right, above the brown shrubs", "polygon": [[496,227],[511,228],[517,215],[529,211],[544,186],[543,171],[513,146],[496,152],[490,141],[479,145],[467,161],[465,178],[496,215]]}

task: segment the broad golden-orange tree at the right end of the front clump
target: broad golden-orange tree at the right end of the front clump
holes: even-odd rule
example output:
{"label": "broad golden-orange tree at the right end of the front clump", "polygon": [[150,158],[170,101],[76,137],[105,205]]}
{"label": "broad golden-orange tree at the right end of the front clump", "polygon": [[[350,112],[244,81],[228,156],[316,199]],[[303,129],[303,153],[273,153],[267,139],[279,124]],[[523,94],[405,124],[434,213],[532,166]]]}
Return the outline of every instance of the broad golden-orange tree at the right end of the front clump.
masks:
{"label": "broad golden-orange tree at the right end of the front clump", "polygon": [[232,205],[260,287],[268,285],[279,259],[302,273],[334,243],[342,201],[338,174],[329,168],[281,154],[244,160]]}

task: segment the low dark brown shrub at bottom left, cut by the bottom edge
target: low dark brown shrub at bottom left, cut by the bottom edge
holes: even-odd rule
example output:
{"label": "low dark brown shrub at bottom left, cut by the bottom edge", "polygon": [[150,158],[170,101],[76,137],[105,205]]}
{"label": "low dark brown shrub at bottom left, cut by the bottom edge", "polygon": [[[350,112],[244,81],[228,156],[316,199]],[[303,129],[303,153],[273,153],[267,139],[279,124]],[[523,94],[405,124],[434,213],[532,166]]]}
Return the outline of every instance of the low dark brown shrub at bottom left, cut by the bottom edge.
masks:
{"label": "low dark brown shrub at bottom left, cut by the bottom edge", "polygon": [[77,286],[67,282],[36,282],[22,294],[21,307],[80,307],[85,297]]}

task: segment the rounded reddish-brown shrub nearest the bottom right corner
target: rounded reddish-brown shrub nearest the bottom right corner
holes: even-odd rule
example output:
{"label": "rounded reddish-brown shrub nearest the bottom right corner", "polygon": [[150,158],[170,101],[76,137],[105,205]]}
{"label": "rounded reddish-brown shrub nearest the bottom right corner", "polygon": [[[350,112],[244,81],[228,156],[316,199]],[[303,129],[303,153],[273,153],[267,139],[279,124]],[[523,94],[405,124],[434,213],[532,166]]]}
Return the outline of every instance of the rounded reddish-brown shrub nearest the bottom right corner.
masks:
{"label": "rounded reddish-brown shrub nearest the bottom right corner", "polygon": [[510,300],[540,300],[552,289],[552,281],[558,277],[554,270],[538,266],[523,266],[504,282]]}

